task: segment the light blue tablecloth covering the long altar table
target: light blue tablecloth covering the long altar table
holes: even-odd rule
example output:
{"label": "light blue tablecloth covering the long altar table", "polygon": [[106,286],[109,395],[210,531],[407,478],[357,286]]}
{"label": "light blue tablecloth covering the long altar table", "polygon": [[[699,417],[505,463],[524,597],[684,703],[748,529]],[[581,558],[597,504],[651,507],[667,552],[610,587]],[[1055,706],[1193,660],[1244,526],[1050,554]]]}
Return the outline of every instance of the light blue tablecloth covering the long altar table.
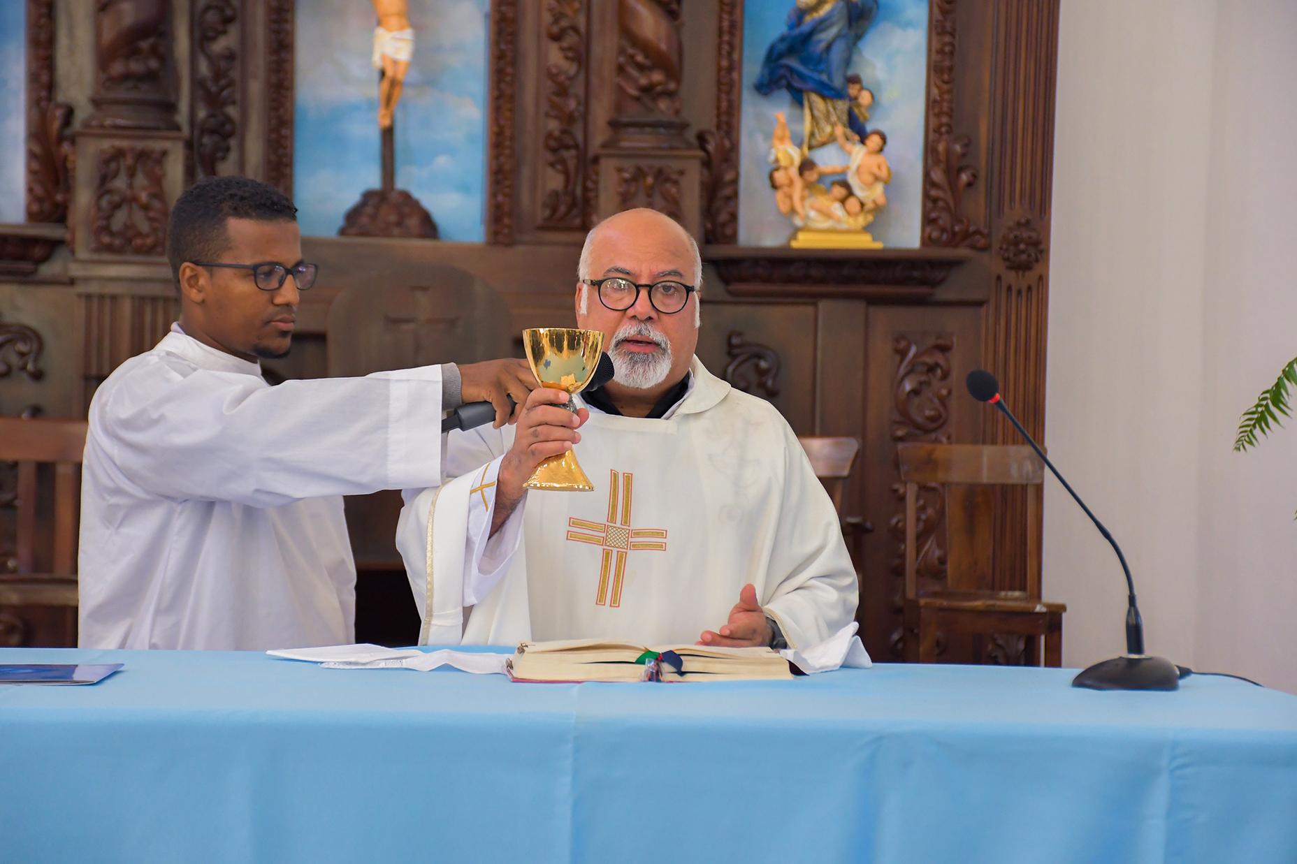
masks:
{"label": "light blue tablecloth covering the long altar table", "polygon": [[877,666],[511,684],[252,653],[0,686],[0,860],[1297,861],[1297,697]]}

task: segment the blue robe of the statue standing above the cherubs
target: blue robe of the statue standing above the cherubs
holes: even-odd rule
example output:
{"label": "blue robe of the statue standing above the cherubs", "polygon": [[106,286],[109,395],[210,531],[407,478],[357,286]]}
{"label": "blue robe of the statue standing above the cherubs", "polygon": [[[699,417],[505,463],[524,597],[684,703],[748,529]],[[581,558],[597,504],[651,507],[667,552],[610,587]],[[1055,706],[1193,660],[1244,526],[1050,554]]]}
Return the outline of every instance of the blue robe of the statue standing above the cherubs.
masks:
{"label": "blue robe of the statue standing above the cherubs", "polygon": [[847,99],[851,53],[877,14],[878,0],[838,0],[811,21],[802,9],[792,9],[787,30],[765,49],[756,92],[769,96],[783,87],[799,105],[805,91]]}

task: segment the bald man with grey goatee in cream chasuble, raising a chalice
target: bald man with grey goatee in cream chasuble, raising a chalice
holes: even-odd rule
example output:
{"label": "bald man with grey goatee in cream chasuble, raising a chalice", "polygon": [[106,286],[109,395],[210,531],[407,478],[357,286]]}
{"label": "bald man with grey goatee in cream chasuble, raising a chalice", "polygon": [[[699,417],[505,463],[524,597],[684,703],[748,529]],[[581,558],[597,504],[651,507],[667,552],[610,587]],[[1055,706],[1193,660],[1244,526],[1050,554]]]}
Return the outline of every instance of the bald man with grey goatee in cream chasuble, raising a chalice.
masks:
{"label": "bald man with grey goatee in cream chasuble, raising a chalice", "polygon": [[[420,642],[805,647],[850,623],[856,573],[796,436],[694,357],[694,240],[620,213],[589,234],[578,279],[577,322],[607,335],[616,378],[578,416],[536,389],[516,428],[451,432],[447,481],[405,493]],[[573,444],[594,492],[524,489]]]}

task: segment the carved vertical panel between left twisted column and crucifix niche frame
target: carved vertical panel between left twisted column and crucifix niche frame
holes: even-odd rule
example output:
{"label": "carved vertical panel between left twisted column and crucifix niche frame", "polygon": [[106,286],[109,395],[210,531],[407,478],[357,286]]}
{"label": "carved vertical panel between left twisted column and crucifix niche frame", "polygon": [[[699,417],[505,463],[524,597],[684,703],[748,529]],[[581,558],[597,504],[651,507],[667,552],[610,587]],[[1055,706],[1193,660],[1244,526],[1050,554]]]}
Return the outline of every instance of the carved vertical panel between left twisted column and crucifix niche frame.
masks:
{"label": "carved vertical panel between left twisted column and crucifix niche frame", "polygon": [[239,102],[239,52],[231,44],[217,47],[237,21],[233,0],[205,0],[195,12],[193,156],[198,176],[215,175],[239,131],[230,113]]}

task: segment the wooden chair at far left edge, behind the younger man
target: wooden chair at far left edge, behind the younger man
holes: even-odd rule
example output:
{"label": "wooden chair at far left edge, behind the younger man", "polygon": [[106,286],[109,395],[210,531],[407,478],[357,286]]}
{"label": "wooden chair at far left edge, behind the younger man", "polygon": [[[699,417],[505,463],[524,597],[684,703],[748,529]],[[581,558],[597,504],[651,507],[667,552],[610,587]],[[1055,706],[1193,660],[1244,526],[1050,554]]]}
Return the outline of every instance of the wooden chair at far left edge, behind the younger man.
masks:
{"label": "wooden chair at far left edge, behind the younger man", "polygon": [[[82,420],[0,418],[0,461],[18,463],[16,554],[0,573],[0,646],[77,645],[78,474],[86,429]],[[45,512],[38,519],[42,463],[53,463],[52,532]],[[52,549],[38,549],[47,533]]]}

